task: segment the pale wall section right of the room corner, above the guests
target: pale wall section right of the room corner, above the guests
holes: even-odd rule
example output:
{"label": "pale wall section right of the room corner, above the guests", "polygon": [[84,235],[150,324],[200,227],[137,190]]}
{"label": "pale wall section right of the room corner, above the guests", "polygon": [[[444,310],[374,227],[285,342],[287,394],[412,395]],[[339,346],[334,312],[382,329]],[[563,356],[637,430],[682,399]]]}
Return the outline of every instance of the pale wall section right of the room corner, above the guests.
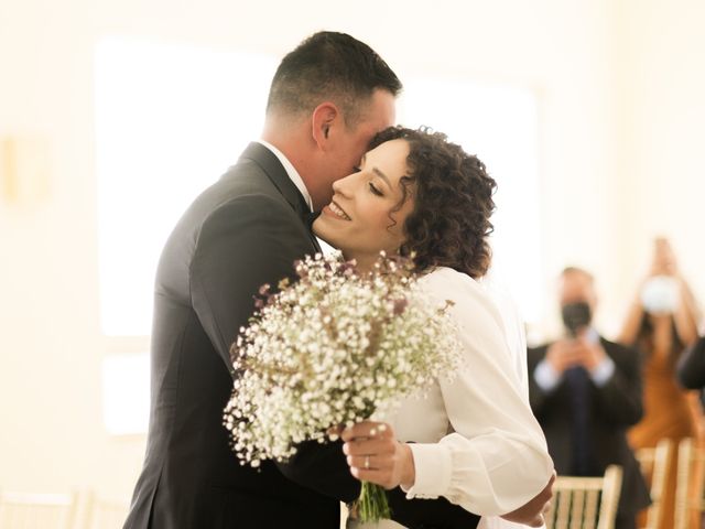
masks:
{"label": "pale wall section right of the room corner, above the guests", "polygon": [[622,15],[620,283],[636,284],[662,234],[705,300],[705,4],[628,0]]}

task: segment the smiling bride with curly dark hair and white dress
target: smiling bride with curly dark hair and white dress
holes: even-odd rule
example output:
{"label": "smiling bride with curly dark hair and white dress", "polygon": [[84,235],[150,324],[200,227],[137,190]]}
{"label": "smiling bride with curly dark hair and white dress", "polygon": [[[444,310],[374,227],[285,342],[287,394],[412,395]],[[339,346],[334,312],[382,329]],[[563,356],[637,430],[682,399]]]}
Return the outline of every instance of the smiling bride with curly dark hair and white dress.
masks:
{"label": "smiling bride with curly dark hair and white dress", "polygon": [[[486,516],[486,527],[502,526],[499,516],[522,520],[512,511],[550,489],[553,463],[502,316],[477,282],[490,263],[495,181],[444,134],[392,127],[376,137],[359,171],[333,187],[313,225],[316,236],[362,271],[380,250],[413,255],[430,295],[455,303],[467,366],[425,398],[412,393],[379,422],[346,429],[351,474],[401,487],[408,498],[445,498]],[[348,527],[402,526],[349,520]]]}

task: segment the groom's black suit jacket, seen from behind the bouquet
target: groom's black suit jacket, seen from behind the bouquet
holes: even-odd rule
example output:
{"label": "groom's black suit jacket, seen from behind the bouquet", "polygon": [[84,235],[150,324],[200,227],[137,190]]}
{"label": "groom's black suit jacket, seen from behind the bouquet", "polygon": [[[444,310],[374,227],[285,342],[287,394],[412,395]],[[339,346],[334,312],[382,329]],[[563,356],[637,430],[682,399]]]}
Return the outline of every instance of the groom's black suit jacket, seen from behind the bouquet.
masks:
{"label": "groom's black suit jacket, seen from behind the bouquet", "polygon": [[[293,276],[318,245],[308,207],[276,156],[252,143],[181,218],[154,292],[147,455],[126,529],[335,529],[359,494],[340,443],[302,445],[288,464],[242,466],[223,427],[230,344],[264,283]],[[474,527],[445,500],[390,494],[410,527]],[[427,520],[438,523],[425,523]]]}

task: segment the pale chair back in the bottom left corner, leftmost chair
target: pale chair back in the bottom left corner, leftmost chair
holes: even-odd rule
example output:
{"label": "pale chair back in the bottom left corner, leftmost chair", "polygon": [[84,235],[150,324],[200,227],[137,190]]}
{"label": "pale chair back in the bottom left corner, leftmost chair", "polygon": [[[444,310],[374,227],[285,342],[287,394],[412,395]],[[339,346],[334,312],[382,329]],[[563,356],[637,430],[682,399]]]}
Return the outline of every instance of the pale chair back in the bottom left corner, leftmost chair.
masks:
{"label": "pale chair back in the bottom left corner, leftmost chair", "polygon": [[0,493],[2,529],[73,529],[76,494]]}

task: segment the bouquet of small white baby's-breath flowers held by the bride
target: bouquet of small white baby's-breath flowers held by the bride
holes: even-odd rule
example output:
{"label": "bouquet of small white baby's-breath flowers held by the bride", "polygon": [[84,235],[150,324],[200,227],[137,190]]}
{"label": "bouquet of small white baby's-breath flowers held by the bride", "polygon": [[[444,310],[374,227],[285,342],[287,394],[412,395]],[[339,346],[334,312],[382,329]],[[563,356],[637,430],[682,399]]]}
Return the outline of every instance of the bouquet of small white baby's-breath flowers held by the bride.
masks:
{"label": "bouquet of small white baby's-breath flowers held by the bride", "polygon": [[[411,262],[383,253],[370,273],[339,256],[296,263],[299,281],[260,289],[258,312],[231,347],[240,376],[224,423],[241,464],[285,461],[303,441],[391,410],[459,367],[451,302],[426,299]],[[389,517],[381,487],[362,484],[361,519]]]}

